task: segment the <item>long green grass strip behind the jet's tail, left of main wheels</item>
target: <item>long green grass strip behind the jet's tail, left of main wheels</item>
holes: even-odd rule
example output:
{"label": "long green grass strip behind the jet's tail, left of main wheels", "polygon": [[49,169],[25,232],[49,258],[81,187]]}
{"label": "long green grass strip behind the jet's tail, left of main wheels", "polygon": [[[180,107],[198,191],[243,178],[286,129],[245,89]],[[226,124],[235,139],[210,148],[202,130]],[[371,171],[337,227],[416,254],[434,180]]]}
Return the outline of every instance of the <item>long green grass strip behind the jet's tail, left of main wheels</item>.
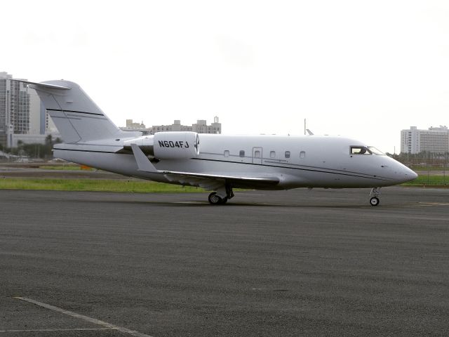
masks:
{"label": "long green grass strip behind the jet's tail, left of main wheels", "polygon": [[0,180],[3,190],[52,190],[52,191],[101,191],[135,193],[192,193],[204,192],[202,188],[182,187],[146,180],[106,180],[106,179],[20,179]]}

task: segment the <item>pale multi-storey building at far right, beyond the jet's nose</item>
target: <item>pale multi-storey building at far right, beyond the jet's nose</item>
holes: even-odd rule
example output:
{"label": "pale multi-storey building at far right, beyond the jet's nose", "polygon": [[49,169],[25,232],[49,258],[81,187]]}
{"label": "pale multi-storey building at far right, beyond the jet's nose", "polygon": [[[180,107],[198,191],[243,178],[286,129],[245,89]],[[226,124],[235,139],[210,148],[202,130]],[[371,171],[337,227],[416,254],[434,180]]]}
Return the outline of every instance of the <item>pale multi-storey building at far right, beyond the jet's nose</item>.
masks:
{"label": "pale multi-storey building at far right, beyond the jet's nose", "polygon": [[449,152],[449,130],[447,126],[428,130],[420,130],[410,126],[401,131],[401,152],[416,154],[420,152],[445,153]]}

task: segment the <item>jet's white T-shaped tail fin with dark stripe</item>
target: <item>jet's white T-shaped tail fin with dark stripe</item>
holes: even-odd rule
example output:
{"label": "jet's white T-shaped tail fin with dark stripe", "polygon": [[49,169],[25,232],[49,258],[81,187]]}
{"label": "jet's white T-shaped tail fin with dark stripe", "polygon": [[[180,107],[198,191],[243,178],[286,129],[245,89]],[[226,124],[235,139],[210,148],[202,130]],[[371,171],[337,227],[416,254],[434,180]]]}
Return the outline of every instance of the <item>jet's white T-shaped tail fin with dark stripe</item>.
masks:
{"label": "jet's white T-shaped tail fin with dark stripe", "polygon": [[115,126],[78,84],[63,80],[17,81],[36,90],[65,143],[124,137],[126,132]]}

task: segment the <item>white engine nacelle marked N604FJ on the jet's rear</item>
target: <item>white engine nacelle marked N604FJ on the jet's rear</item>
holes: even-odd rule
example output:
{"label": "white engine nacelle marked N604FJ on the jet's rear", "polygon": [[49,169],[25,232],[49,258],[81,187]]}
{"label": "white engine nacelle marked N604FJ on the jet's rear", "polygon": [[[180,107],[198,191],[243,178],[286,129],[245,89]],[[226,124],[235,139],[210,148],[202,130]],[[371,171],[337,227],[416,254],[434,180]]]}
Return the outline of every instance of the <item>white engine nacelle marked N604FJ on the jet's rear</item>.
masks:
{"label": "white engine nacelle marked N604FJ on the jet's rear", "polygon": [[157,159],[194,158],[199,155],[199,136],[196,132],[158,132],[153,146]]}

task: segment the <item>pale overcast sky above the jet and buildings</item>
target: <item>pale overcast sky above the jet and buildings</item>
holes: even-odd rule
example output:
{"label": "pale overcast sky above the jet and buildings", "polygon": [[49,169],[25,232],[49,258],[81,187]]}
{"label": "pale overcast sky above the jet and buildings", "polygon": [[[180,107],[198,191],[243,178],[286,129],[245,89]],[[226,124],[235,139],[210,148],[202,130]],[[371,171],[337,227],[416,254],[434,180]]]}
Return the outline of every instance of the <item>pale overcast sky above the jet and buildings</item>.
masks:
{"label": "pale overcast sky above the jet and buildings", "polygon": [[0,71],[83,87],[118,125],[220,117],[226,134],[400,150],[448,125],[449,1],[3,1]]}

